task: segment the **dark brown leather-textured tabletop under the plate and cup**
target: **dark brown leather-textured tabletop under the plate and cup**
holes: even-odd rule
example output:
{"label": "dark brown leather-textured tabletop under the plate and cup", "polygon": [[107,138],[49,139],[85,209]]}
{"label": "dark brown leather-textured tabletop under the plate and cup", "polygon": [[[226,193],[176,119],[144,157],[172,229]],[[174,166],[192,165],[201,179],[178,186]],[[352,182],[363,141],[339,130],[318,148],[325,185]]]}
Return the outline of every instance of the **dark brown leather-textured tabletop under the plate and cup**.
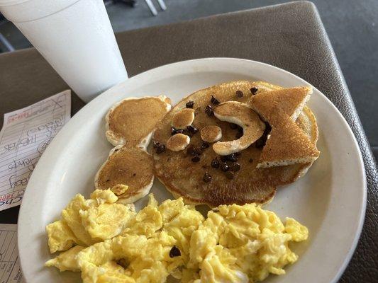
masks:
{"label": "dark brown leather-textured tabletop under the plate and cup", "polygon": [[[348,86],[313,4],[293,2],[131,30],[116,37],[130,76],[187,59],[238,57],[286,69],[328,96],[357,137],[368,183],[362,236],[340,282],[377,282],[377,168]],[[1,113],[67,89],[67,84],[34,49],[1,54],[0,66]],[[83,106],[82,100],[74,94],[72,115]],[[0,124],[2,119],[1,115]],[[16,223],[17,215],[18,207],[0,212],[0,223]]]}

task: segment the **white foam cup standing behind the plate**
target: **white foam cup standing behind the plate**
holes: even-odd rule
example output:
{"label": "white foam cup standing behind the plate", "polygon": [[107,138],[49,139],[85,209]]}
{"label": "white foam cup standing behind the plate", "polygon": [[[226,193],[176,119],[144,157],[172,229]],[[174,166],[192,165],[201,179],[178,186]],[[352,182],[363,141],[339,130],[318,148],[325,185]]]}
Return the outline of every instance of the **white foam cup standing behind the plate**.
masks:
{"label": "white foam cup standing behind the plate", "polygon": [[102,0],[0,0],[0,11],[85,102],[128,78]]}

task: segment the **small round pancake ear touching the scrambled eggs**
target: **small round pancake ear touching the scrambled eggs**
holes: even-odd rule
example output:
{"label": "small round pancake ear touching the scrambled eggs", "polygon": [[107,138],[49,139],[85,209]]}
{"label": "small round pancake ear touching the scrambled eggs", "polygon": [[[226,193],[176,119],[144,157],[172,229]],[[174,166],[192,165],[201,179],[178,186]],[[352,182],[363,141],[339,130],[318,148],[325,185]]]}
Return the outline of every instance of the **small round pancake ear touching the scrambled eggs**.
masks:
{"label": "small round pancake ear touching the scrambled eggs", "polygon": [[101,190],[127,185],[126,192],[118,195],[118,202],[128,204],[147,195],[153,180],[150,154],[138,147],[116,146],[96,173],[94,183]]}

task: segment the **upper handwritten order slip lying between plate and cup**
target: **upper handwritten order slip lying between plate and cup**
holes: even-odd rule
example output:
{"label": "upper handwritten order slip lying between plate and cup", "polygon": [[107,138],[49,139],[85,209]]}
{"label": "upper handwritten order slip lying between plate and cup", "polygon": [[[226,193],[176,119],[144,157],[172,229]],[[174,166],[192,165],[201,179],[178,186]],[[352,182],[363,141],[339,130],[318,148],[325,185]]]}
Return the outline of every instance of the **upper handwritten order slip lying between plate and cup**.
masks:
{"label": "upper handwritten order slip lying between plate and cup", "polygon": [[0,211],[21,204],[35,164],[70,117],[71,91],[4,115],[0,132]]}

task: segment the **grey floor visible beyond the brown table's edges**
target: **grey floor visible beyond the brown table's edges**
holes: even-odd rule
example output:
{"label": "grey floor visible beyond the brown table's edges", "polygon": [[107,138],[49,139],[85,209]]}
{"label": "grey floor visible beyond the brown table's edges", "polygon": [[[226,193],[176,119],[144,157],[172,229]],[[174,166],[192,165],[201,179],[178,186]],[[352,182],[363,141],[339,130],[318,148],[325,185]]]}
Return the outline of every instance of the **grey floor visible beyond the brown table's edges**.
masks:
{"label": "grey floor visible beyond the brown table's edges", "polygon": [[[160,11],[155,1],[155,6],[160,11],[155,17],[151,16],[143,0],[138,0],[135,8],[110,4],[107,10],[113,29],[118,32],[284,2],[288,1],[165,0],[167,11]],[[374,156],[378,160],[378,1],[313,0],[313,3],[318,7]],[[11,23],[1,25],[0,32],[9,38],[16,49],[30,46]]]}

